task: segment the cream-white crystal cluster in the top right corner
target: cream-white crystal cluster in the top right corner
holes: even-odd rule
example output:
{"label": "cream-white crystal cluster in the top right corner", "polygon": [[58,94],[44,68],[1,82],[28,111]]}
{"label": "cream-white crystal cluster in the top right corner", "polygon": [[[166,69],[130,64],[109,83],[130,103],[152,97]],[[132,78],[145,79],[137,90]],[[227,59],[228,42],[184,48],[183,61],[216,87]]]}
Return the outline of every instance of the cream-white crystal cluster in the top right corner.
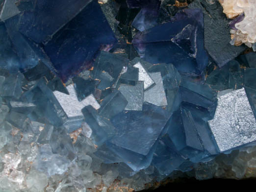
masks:
{"label": "cream-white crystal cluster in the top right corner", "polygon": [[228,18],[235,17],[234,27],[230,30],[231,45],[240,46],[245,44],[256,51],[256,2],[255,0],[220,0],[223,12]]}

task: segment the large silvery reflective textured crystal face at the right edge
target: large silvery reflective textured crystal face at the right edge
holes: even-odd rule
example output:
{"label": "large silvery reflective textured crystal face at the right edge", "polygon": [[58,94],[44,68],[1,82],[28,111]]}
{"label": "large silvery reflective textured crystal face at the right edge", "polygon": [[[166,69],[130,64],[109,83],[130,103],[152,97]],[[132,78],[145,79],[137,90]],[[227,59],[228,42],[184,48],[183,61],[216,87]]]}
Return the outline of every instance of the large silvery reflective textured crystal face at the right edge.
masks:
{"label": "large silvery reflective textured crystal face at the right edge", "polygon": [[208,122],[220,151],[256,140],[256,119],[244,88],[219,96],[214,119]]}

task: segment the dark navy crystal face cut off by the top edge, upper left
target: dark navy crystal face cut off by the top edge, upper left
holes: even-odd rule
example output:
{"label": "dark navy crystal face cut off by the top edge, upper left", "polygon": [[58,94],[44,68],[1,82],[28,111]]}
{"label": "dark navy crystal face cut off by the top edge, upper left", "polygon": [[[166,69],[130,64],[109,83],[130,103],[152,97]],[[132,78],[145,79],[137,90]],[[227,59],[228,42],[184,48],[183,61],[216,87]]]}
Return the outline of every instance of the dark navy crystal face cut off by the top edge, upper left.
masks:
{"label": "dark navy crystal face cut off by the top edge, upper left", "polygon": [[[61,27],[71,21],[91,0],[37,0],[35,8],[27,4],[20,15],[19,31],[36,43],[47,42]],[[20,5],[24,2],[20,1]],[[25,6],[25,5],[24,5]],[[26,10],[28,9],[28,10]],[[54,18],[54,19],[53,19]]]}

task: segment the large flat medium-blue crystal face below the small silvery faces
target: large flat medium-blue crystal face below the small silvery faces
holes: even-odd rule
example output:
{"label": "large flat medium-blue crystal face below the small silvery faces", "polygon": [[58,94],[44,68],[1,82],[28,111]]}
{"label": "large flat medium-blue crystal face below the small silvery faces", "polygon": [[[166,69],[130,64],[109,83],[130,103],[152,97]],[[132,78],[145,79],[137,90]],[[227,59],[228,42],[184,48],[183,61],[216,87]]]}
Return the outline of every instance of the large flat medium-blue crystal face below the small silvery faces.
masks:
{"label": "large flat medium-blue crystal face below the small silvery faces", "polygon": [[124,111],[111,119],[117,132],[110,142],[147,155],[169,117],[167,111],[149,103],[143,105],[142,111]]}

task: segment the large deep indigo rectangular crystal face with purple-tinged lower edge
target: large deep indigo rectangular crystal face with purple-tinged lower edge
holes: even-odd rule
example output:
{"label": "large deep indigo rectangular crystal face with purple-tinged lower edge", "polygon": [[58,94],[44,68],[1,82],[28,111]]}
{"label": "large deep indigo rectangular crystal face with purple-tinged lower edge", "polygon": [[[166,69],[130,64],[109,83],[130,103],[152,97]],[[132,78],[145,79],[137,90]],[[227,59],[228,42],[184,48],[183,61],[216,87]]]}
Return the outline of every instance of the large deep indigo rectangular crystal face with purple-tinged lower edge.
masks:
{"label": "large deep indigo rectangular crystal face with purple-tinged lower edge", "polygon": [[99,50],[109,50],[115,35],[95,0],[55,33],[44,50],[58,75],[66,81],[81,68],[89,69]]}

